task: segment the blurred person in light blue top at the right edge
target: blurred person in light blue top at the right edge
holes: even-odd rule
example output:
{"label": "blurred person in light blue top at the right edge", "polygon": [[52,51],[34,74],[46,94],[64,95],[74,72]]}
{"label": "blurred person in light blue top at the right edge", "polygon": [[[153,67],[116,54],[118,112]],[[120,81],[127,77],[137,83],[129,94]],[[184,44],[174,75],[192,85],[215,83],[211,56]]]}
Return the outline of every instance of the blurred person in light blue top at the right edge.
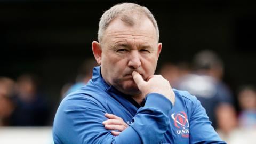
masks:
{"label": "blurred person in light blue top at the right edge", "polygon": [[241,107],[239,127],[245,129],[256,128],[256,88],[243,86],[238,93],[238,102]]}

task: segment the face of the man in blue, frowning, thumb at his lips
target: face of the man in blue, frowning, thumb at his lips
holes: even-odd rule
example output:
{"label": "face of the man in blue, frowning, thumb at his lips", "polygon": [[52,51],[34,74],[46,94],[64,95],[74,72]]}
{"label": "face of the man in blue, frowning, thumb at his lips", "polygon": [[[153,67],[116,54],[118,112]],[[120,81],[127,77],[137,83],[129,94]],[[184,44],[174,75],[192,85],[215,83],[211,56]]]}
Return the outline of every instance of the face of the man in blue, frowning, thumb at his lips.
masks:
{"label": "face of the man in blue, frowning, thumb at his lips", "polygon": [[105,81],[125,94],[139,94],[131,74],[137,71],[146,81],[155,72],[162,48],[153,23],[144,18],[129,26],[116,18],[106,29],[101,46],[101,74]]}

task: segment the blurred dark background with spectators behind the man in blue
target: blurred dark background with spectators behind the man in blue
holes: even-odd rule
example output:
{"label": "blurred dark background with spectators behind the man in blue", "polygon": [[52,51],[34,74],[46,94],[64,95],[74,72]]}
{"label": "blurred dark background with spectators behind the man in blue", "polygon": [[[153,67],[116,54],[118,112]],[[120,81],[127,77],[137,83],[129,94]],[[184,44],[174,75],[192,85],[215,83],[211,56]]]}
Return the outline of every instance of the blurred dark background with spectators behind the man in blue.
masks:
{"label": "blurred dark background with spectators behind the man in blue", "polygon": [[[99,19],[119,2],[0,0],[0,143],[52,143],[55,111],[90,79]],[[156,73],[196,95],[222,139],[255,143],[256,5],[129,2],[148,7],[158,22]]]}

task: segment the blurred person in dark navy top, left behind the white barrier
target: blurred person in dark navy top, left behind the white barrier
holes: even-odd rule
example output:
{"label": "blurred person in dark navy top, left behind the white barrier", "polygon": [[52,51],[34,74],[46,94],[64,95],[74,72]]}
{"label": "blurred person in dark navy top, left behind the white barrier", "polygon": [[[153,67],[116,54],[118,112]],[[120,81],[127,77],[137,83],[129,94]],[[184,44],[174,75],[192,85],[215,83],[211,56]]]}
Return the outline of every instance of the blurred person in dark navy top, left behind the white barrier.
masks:
{"label": "blurred person in dark navy top, left behind the white barrier", "polygon": [[49,107],[43,95],[37,91],[37,79],[25,74],[18,77],[13,126],[43,126],[49,123]]}

